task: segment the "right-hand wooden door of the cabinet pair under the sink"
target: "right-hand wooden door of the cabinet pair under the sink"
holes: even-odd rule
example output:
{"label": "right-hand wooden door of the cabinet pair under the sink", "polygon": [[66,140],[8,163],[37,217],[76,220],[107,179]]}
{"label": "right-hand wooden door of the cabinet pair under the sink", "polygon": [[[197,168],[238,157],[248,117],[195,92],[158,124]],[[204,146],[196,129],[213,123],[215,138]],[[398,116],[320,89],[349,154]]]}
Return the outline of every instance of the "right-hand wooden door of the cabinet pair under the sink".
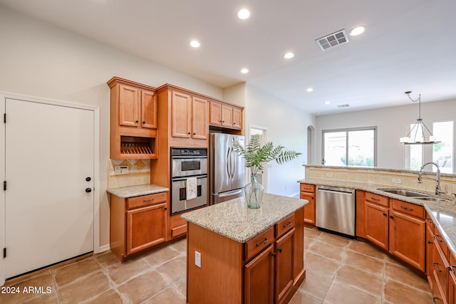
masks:
{"label": "right-hand wooden door of the cabinet pair under the sink", "polygon": [[390,253],[425,271],[425,232],[426,224],[402,212],[390,213]]}

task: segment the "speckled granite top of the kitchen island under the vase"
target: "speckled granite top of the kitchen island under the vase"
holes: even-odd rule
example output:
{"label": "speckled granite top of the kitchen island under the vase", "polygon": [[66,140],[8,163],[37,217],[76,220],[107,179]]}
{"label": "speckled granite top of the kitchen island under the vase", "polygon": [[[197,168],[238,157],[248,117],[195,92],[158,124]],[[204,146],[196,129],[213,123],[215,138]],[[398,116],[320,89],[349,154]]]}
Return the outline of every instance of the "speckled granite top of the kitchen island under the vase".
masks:
{"label": "speckled granite top of the kitchen island under the vase", "polygon": [[294,213],[309,201],[263,194],[261,208],[249,209],[244,197],[182,214],[182,219],[239,243]]}

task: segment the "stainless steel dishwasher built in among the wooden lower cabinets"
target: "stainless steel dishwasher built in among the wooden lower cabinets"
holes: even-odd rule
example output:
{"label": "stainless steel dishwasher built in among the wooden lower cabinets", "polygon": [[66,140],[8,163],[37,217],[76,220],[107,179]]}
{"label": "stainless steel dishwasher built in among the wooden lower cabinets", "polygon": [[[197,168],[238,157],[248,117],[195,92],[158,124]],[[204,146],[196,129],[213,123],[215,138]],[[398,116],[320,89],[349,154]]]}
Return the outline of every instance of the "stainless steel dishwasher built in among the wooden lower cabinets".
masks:
{"label": "stainless steel dishwasher built in among the wooden lower cabinets", "polygon": [[355,236],[355,189],[318,186],[316,193],[316,226]]}

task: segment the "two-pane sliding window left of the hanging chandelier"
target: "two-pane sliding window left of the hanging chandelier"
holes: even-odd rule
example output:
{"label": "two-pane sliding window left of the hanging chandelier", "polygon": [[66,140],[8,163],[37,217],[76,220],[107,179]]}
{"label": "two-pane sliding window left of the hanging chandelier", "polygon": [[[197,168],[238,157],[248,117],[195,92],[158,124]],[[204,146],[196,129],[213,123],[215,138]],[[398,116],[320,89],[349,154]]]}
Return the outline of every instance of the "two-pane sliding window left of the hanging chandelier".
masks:
{"label": "two-pane sliding window left of the hanging chandelier", "polygon": [[376,127],[323,130],[323,164],[375,167]]}

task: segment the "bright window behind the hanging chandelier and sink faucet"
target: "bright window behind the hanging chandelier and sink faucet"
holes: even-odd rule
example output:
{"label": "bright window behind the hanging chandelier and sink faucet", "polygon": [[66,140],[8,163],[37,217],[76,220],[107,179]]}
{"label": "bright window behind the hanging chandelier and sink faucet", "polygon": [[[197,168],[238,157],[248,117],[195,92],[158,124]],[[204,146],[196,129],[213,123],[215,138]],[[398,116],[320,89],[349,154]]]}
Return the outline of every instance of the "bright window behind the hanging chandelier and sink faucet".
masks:
{"label": "bright window behind the hanging chandelier and sink faucet", "polygon": [[[405,125],[405,134],[415,124]],[[427,162],[435,162],[440,167],[440,172],[453,172],[453,121],[442,121],[432,123],[432,135],[441,141],[435,145],[404,145],[404,168],[419,171],[421,166]],[[420,132],[420,130],[419,130]],[[427,167],[427,170],[436,172],[435,166]]]}

